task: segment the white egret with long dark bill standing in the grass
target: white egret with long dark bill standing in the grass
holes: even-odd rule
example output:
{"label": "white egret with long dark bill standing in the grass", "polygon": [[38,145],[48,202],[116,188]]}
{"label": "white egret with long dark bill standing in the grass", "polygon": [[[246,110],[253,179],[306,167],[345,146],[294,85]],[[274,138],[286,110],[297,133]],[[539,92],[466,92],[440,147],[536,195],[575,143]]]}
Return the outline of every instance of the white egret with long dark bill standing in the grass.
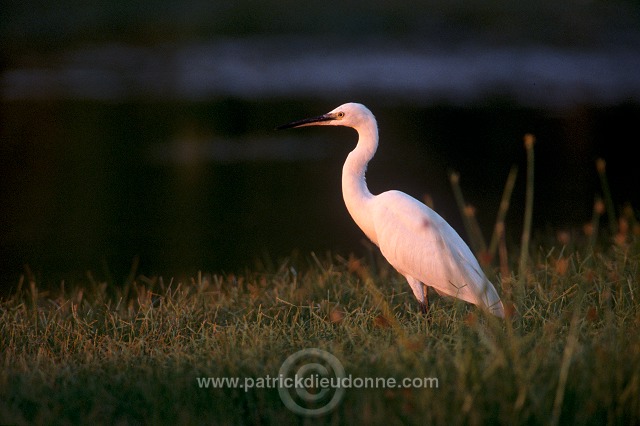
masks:
{"label": "white egret with long dark bill standing in the grass", "polygon": [[[346,103],[327,114],[278,127],[346,126],[358,132],[358,144],[342,168],[342,195],[347,210],[387,261],[402,274],[423,312],[425,286],[504,317],[493,284],[458,233],[435,211],[400,191],[369,192],[367,164],[378,147],[378,125],[367,107]],[[424,284],[424,285],[423,285]]]}

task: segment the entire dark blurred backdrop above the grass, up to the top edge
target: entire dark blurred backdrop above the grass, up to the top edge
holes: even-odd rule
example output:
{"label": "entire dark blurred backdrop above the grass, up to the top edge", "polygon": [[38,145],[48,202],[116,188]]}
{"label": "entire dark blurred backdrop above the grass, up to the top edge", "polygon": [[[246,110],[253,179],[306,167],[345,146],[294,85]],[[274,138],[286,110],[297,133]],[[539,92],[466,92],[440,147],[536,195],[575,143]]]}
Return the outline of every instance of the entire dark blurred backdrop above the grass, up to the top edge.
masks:
{"label": "entire dark blurred backdrop above the grass, up to the top edge", "polygon": [[637,3],[345,3],[3,6],[0,285],[366,254],[340,193],[355,133],[273,130],[348,101],[379,121],[372,192],[429,194],[463,238],[448,173],[488,236],[516,164],[517,243],[528,132],[537,232],[590,220],[598,157],[637,209]]}

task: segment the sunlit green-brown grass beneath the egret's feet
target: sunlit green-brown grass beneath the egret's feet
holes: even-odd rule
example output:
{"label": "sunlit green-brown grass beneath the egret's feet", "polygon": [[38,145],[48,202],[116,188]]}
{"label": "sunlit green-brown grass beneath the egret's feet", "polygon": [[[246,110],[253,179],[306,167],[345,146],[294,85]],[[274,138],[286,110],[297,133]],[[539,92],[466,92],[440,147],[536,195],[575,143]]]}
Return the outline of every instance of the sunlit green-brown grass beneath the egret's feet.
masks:
{"label": "sunlit green-brown grass beneath the egret's feet", "polygon": [[[639,257],[637,241],[538,251],[505,322],[437,298],[425,318],[384,262],[329,255],[181,283],[88,277],[43,290],[25,277],[0,303],[0,423],[638,423]],[[275,377],[313,347],[353,377],[438,387],[347,389],[316,419],[277,389],[198,387]]]}

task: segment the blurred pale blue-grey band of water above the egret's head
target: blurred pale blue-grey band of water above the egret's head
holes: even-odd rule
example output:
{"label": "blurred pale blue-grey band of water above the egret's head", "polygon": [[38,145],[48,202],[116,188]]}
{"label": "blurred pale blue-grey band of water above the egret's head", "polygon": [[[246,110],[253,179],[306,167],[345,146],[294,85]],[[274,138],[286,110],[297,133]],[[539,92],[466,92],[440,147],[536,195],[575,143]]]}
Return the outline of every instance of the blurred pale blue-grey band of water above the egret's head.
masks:
{"label": "blurred pale blue-grey band of water above the egret's head", "polygon": [[[70,50],[3,74],[7,99],[265,99],[376,93],[396,102],[468,104],[507,96],[536,107],[640,99],[640,55],[617,48],[458,45],[300,37]],[[21,61],[17,61],[20,63]]]}

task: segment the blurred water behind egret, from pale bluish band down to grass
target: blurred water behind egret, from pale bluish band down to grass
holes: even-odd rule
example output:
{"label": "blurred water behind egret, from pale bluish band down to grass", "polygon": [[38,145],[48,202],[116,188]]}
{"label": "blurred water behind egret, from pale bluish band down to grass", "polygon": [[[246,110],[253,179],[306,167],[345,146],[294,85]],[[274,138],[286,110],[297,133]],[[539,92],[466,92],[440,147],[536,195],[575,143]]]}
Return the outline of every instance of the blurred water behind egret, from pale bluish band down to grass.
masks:
{"label": "blurred water behind egret, from pale bluish band down to grass", "polygon": [[[608,161],[618,206],[640,182],[640,59],[539,47],[453,52],[314,39],[85,47],[30,56],[2,75],[4,268],[194,274],[277,262],[293,250],[362,255],[340,194],[345,129],[275,132],[346,101],[376,114],[375,192],[422,198],[466,238],[457,170],[488,234],[511,165],[519,233],[522,136],[534,133],[538,229],[580,226]],[[365,48],[366,47],[366,48]],[[13,283],[11,283],[13,284]]]}

